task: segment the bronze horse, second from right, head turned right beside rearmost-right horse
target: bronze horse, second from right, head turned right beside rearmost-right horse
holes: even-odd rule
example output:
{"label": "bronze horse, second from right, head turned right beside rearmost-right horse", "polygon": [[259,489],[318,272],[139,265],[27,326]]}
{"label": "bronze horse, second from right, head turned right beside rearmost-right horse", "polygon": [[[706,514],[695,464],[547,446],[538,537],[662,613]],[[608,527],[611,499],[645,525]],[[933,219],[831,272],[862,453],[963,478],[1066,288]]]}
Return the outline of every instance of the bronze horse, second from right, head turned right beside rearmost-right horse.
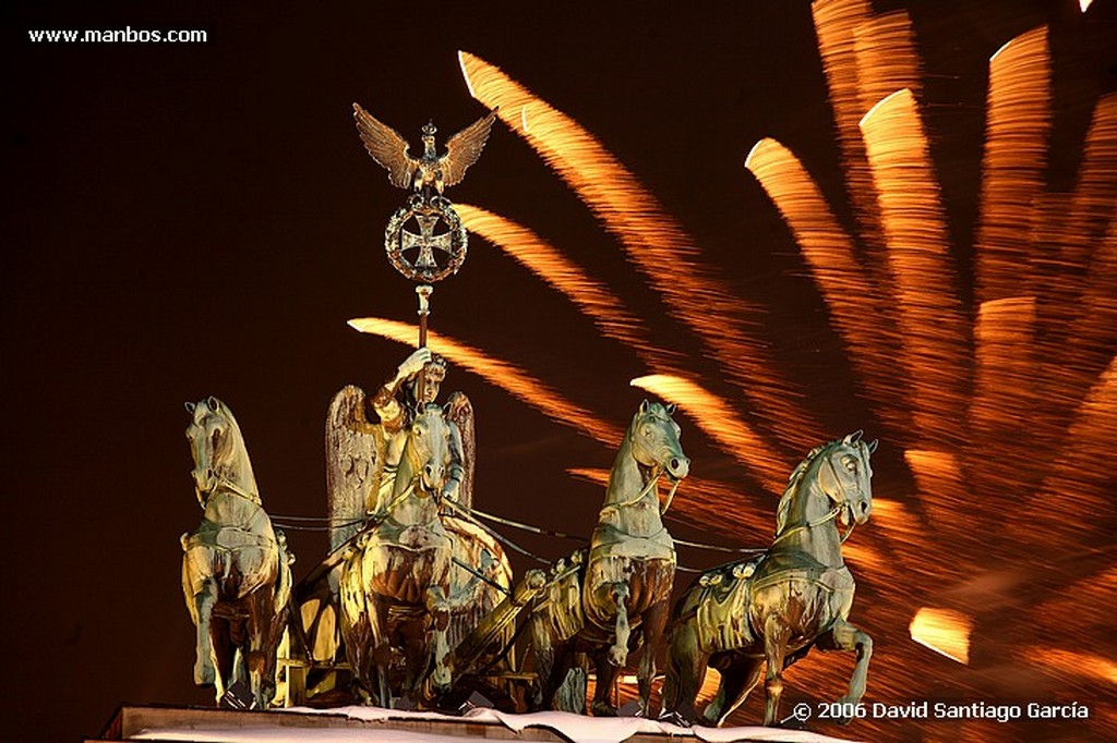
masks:
{"label": "bronze horse, second from right, head turned right beside rearmost-right horse", "polygon": [[582,712],[584,688],[581,698],[576,692],[561,692],[584,653],[596,668],[593,714],[615,715],[610,693],[636,645],[636,631],[643,639],[638,679],[641,712],[647,714],[676,565],[657,485],[666,475],[677,486],[690,467],[674,412],[674,405],[647,401],[640,405],[617,452],[588,553],[575,553],[570,568],[555,567],[533,609],[538,702],[545,708]]}

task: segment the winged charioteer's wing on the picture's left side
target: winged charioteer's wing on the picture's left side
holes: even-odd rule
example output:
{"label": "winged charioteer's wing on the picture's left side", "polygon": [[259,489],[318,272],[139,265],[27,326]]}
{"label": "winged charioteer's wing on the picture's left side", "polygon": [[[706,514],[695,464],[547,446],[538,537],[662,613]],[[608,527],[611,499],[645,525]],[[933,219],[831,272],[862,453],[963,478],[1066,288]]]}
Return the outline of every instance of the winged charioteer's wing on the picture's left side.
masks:
{"label": "winged charioteer's wing on the picture's left side", "polygon": [[334,395],[326,415],[326,505],[330,549],[361,530],[374,510],[384,470],[384,436],[364,414],[364,392],[349,385]]}

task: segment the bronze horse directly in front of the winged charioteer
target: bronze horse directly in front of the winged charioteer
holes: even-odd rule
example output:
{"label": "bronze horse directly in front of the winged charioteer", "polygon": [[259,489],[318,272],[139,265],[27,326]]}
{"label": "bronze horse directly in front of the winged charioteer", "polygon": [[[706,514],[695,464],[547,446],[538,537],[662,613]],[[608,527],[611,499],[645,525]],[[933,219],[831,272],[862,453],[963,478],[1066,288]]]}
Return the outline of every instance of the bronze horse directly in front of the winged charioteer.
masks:
{"label": "bronze horse directly in front of the winged charioteer", "polygon": [[416,416],[391,496],[370,517],[342,566],[342,636],[359,693],[392,706],[392,646],[405,663],[403,688],[420,694],[432,682],[449,691],[447,665],[452,544],[439,514],[438,494],[450,462],[443,411],[428,404]]}

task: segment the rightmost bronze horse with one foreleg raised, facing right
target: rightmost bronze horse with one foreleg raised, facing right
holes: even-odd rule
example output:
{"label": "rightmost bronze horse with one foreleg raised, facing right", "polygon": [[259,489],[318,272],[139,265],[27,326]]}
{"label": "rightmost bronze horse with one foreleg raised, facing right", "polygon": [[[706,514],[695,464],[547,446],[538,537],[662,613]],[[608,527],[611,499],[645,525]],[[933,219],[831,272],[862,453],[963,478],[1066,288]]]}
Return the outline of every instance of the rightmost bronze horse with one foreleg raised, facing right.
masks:
{"label": "rightmost bronze horse with one foreleg raised, facing right", "polygon": [[700,722],[720,725],[766,667],[764,724],[779,724],[783,670],[812,647],[857,652],[839,704],[851,710],[861,699],[872,638],[848,621],[856,585],[841,546],[872,513],[876,447],[857,432],[812,450],[789,479],[772,547],[760,559],[708,570],[687,589],[668,641],[665,718],[699,722],[694,703],[710,666],[722,682]]}

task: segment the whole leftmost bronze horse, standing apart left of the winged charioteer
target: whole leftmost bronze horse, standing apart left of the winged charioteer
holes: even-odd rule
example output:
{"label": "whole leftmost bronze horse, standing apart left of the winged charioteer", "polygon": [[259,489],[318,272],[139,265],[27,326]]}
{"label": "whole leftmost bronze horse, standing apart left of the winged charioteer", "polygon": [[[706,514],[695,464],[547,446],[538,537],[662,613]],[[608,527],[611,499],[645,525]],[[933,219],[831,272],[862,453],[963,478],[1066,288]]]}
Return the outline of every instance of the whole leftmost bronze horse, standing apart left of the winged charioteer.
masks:
{"label": "whole leftmost bronze horse, standing apart left of the winged charioteer", "polygon": [[[276,649],[287,627],[294,562],[273,528],[232,411],[216,397],[187,403],[191,473],[202,522],[182,535],[182,590],[198,628],[194,683],[219,703],[237,682],[264,708],[276,688]],[[247,672],[247,673],[246,673]]]}

